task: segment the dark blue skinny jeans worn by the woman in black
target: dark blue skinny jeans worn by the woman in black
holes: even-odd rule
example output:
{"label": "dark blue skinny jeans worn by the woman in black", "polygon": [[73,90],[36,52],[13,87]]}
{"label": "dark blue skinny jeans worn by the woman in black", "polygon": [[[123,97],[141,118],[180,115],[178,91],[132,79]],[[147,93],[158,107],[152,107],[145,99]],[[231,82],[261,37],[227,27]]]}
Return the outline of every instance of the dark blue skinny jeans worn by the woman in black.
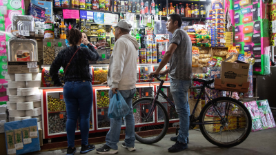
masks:
{"label": "dark blue skinny jeans worn by the woman in black", "polygon": [[75,147],[75,128],[78,116],[81,118],[81,145],[88,145],[89,120],[93,103],[92,92],[90,81],[67,81],[63,87],[67,111],[68,147]]}

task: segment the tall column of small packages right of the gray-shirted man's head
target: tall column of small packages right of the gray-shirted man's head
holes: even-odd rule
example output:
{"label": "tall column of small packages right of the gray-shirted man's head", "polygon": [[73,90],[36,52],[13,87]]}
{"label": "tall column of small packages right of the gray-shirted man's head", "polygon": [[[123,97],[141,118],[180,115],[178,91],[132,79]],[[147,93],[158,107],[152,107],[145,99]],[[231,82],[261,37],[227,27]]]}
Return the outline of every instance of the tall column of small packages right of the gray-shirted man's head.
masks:
{"label": "tall column of small packages right of the gray-shirted man's head", "polygon": [[217,34],[215,34],[214,38],[212,38],[211,44],[212,47],[225,47],[225,41],[221,41],[225,37],[225,26],[226,22],[224,21],[224,10],[223,9],[213,9],[209,12],[212,30],[216,30]]}

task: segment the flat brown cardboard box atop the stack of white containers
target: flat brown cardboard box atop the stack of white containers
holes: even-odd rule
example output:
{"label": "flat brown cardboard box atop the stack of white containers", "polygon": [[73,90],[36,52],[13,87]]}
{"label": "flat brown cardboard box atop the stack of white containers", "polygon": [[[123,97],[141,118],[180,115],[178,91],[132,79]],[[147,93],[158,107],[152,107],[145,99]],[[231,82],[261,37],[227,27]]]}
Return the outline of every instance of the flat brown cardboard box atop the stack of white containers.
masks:
{"label": "flat brown cardboard box atop the stack of white containers", "polygon": [[37,68],[28,68],[27,63],[27,61],[8,62],[8,74],[39,73],[39,62],[36,62]]}

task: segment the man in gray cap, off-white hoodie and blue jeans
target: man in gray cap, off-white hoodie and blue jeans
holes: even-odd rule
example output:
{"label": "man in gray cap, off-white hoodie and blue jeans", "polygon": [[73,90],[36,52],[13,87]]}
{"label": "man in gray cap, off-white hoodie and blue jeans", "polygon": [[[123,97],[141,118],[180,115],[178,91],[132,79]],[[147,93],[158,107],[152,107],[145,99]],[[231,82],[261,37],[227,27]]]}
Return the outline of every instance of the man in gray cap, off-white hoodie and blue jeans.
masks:
{"label": "man in gray cap, off-white hoodie and blue jeans", "polygon": [[[135,121],[133,116],[132,98],[135,96],[137,81],[137,57],[139,43],[129,32],[132,26],[128,21],[121,20],[115,26],[115,38],[117,39],[108,70],[109,98],[112,99],[117,90],[124,97],[130,107],[130,112],[125,117],[126,138],[122,147],[130,151],[135,150]],[[121,118],[110,118],[110,130],[106,135],[106,145],[97,149],[99,154],[116,154],[117,143],[121,132]]]}

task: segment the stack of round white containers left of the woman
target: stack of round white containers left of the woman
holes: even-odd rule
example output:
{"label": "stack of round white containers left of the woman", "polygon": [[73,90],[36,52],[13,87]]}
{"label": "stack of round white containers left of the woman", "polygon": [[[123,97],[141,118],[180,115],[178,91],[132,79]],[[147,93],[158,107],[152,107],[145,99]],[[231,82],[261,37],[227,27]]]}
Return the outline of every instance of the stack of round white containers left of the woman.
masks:
{"label": "stack of round white containers left of the woman", "polygon": [[6,74],[5,80],[8,81],[8,121],[37,118],[41,129],[41,73]]}

